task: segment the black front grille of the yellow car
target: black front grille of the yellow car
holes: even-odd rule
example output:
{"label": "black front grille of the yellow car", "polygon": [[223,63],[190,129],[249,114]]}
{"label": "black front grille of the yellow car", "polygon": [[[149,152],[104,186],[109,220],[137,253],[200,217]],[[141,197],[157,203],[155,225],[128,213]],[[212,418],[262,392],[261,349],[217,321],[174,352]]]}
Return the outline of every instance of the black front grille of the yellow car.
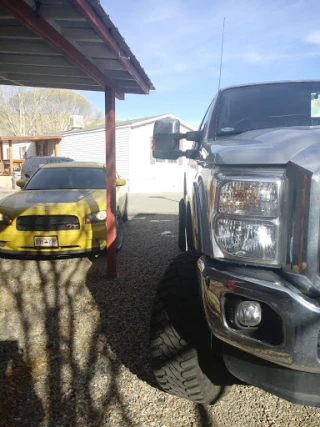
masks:
{"label": "black front grille of the yellow car", "polygon": [[17,219],[20,231],[79,230],[79,219],[74,215],[26,215]]}

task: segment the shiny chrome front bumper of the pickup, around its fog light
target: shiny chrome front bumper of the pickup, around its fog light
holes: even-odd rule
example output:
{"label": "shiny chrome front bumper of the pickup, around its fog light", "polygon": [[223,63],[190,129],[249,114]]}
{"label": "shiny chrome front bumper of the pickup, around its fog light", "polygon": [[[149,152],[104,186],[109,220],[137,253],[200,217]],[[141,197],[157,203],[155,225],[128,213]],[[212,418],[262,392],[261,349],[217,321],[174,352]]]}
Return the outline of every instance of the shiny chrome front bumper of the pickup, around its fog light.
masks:
{"label": "shiny chrome front bumper of the pickup, around its fog light", "polygon": [[[280,275],[272,273],[274,280],[260,280],[259,274],[249,277],[239,274],[240,268],[235,274],[223,267],[206,256],[198,261],[203,306],[212,333],[259,358],[290,369],[320,373],[320,300],[307,297]],[[254,334],[250,328],[233,327],[226,301],[237,298],[259,301],[278,323],[262,322]],[[270,330],[275,325],[276,329]],[[272,335],[280,337],[279,342],[257,338]]]}

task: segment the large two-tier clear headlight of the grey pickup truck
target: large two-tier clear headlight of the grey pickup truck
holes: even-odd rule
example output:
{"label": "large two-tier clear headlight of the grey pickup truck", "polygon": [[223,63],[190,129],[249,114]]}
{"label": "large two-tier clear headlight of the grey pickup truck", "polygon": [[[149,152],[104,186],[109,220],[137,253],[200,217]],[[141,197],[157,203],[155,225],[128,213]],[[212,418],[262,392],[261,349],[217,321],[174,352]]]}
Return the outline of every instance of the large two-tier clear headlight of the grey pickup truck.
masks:
{"label": "large two-tier clear headlight of the grey pickup truck", "polygon": [[280,265],[284,173],[215,175],[211,195],[214,256],[255,265]]}

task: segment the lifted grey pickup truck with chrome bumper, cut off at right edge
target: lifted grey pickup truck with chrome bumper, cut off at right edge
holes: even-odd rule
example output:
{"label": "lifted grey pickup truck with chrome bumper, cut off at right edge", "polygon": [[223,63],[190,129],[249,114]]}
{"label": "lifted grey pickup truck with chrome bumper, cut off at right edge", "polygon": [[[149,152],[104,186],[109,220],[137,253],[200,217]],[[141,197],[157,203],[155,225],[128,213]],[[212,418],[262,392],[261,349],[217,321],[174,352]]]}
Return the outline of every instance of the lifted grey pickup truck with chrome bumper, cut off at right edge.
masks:
{"label": "lifted grey pickup truck with chrome bumper, cut off at right edge", "polygon": [[198,131],[157,121],[153,148],[189,159],[183,253],[151,320],[158,384],[204,404],[241,382],[320,406],[320,81],[219,90]]}

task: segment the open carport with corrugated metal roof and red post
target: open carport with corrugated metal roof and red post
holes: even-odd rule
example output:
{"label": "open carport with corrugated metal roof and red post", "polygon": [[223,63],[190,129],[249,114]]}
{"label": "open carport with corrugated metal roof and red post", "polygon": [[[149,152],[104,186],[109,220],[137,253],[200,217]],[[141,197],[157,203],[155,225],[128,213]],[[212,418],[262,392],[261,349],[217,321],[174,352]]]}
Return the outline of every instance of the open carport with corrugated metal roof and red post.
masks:
{"label": "open carport with corrugated metal roof and red post", "polygon": [[107,275],[116,275],[115,97],[150,79],[99,0],[0,0],[0,84],[105,92]]}

